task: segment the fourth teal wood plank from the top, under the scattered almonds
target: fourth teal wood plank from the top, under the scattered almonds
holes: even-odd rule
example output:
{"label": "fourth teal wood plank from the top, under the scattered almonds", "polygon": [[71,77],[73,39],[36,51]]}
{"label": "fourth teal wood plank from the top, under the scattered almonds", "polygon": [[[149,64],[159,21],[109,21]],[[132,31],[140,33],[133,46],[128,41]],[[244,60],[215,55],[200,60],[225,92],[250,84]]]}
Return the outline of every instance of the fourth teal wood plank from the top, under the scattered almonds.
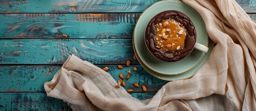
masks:
{"label": "fourth teal wood plank from the top, under the scattered almonds", "polygon": [[[131,65],[124,69],[118,69],[117,65],[97,65],[100,68],[108,67],[107,71],[112,77],[118,81],[119,74],[128,74],[131,69],[130,79],[124,80],[127,89],[134,89],[134,92],[143,92],[141,87],[135,87],[133,82],[137,82],[140,86],[147,86],[148,92],[157,92],[168,83],[168,81],[160,80],[147,73],[140,65]],[[136,67],[138,70],[133,71]],[[61,65],[37,65],[37,66],[0,66],[0,92],[44,92],[43,84],[50,81],[54,74],[61,68]]]}

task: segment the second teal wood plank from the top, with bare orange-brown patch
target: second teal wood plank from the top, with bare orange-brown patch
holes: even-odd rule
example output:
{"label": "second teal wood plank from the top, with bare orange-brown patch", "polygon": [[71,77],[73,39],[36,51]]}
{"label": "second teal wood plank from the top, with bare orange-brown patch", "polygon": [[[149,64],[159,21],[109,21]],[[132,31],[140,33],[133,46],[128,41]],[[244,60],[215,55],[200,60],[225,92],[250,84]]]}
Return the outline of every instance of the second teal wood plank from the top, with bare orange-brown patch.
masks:
{"label": "second teal wood plank from the top, with bare orange-brown patch", "polygon": [[0,14],[0,38],[131,38],[140,13]]}

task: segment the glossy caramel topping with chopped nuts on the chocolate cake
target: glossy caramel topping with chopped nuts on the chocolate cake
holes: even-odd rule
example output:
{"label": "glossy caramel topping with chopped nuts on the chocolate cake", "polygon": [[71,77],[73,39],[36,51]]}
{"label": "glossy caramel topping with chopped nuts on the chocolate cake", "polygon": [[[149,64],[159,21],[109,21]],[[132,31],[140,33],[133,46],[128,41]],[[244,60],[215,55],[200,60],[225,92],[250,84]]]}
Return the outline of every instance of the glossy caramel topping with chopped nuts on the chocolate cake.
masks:
{"label": "glossy caramel topping with chopped nuts on the chocolate cake", "polygon": [[155,47],[163,51],[183,48],[187,36],[184,26],[173,19],[164,20],[156,26]]}

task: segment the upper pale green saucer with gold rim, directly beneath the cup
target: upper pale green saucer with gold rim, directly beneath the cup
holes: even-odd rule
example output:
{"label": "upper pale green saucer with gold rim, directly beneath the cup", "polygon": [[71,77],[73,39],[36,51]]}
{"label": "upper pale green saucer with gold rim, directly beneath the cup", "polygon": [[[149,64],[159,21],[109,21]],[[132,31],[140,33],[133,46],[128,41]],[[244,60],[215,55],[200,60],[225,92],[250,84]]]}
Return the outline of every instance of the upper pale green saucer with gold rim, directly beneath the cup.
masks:
{"label": "upper pale green saucer with gold rim, directly beneath the cup", "polygon": [[192,7],[177,0],[163,0],[149,6],[140,16],[133,32],[133,49],[141,62],[157,74],[176,75],[193,69],[204,57],[205,53],[194,49],[189,56],[178,62],[164,62],[156,59],[145,45],[145,29],[148,22],[159,12],[177,10],[186,14],[194,23],[197,43],[208,46],[208,33],[200,14]]}

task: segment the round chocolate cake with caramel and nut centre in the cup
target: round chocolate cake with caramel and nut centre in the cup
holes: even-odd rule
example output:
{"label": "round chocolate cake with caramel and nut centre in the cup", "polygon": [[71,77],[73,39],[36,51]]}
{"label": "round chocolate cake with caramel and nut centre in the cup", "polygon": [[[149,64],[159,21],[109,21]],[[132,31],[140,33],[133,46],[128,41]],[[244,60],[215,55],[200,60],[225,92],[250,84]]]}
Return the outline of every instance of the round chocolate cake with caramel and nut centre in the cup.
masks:
{"label": "round chocolate cake with caramel and nut centre in the cup", "polygon": [[193,22],[182,12],[160,12],[148,23],[145,42],[153,56],[176,62],[190,54],[196,41]]}

